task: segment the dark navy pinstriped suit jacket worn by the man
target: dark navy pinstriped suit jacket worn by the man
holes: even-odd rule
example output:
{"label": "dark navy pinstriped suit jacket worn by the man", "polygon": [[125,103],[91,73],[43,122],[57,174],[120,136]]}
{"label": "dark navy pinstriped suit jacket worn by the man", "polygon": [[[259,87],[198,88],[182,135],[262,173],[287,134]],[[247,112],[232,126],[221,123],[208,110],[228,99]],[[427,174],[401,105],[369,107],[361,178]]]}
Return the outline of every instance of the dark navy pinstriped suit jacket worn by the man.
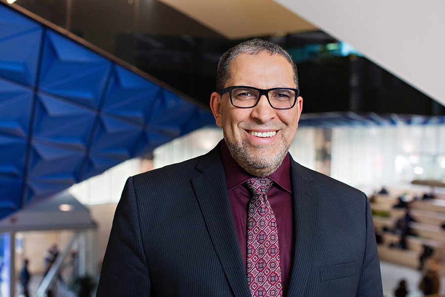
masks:
{"label": "dark navy pinstriped suit jacket worn by the man", "polygon": [[[291,160],[295,257],[289,297],[381,297],[366,196]],[[97,297],[250,297],[219,146],[130,177]]]}

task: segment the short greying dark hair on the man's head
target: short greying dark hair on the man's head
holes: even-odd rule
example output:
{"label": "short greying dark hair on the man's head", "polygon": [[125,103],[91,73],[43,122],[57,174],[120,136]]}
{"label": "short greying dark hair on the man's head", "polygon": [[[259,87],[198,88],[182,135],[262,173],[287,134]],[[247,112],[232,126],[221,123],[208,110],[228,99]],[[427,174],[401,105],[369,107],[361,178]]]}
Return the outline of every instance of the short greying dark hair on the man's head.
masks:
{"label": "short greying dark hair on the man's head", "polygon": [[230,78],[230,63],[235,59],[240,53],[248,53],[248,54],[256,54],[260,52],[268,52],[270,55],[278,54],[284,58],[291,64],[292,70],[294,73],[294,82],[298,88],[298,73],[297,73],[297,65],[295,64],[292,56],[279,45],[271,43],[269,41],[255,38],[239,45],[234,46],[231,49],[228,49],[220,58],[218,63],[217,70],[217,80],[216,80],[216,90],[220,91],[224,88],[225,82]]}

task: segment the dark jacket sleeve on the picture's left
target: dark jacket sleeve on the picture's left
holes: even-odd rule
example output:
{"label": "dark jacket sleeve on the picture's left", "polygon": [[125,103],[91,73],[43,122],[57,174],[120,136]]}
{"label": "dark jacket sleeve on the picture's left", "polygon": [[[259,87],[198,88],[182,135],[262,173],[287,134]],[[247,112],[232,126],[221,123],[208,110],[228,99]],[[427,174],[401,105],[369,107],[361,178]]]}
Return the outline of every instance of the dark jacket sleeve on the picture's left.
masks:
{"label": "dark jacket sleeve on the picture's left", "polygon": [[117,205],[96,297],[154,296],[140,233],[133,179]]}

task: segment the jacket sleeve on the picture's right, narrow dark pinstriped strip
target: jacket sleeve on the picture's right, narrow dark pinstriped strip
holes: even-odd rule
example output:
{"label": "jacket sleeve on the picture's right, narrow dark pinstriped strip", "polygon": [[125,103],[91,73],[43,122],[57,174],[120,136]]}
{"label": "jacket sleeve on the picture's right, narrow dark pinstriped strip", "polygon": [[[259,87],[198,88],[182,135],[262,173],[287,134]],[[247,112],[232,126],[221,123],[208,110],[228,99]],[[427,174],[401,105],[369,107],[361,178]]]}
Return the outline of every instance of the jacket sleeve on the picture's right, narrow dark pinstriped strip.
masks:
{"label": "jacket sleeve on the picture's right, narrow dark pinstriped strip", "polygon": [[375,241],[371,206],[366,199],[366,247],[356,297],[383,297],[380,261]]}

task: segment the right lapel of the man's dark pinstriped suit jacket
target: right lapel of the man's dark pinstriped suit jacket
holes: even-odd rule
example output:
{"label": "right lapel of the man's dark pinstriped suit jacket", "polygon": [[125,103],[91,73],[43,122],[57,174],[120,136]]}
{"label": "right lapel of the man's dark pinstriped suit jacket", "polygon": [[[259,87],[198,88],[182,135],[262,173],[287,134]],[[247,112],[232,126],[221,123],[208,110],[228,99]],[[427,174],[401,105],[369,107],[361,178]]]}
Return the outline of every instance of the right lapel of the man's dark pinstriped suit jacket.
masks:
{"label": "right lapel of the man's dark pinstriped suit jacket", "polygon": [[306,168],[291,160],[295,217],[295,255],[288,297],[303,297],[315,247],[319,194]]}

